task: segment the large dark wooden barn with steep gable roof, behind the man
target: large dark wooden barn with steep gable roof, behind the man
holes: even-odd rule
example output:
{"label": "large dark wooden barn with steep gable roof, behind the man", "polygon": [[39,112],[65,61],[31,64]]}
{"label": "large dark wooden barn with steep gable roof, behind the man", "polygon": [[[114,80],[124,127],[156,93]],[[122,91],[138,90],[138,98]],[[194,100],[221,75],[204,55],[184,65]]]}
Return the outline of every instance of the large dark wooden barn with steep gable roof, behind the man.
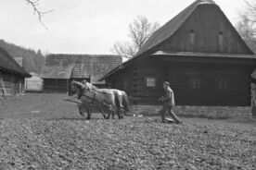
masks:
{"label": "large dark wooden barn with steep gable roof, behind the man", "polygon": [[168,80],[178,105],[250,105],[256,57],[224,12],[197,0],[157,30],[134,58],[100,80],[157,103]]}

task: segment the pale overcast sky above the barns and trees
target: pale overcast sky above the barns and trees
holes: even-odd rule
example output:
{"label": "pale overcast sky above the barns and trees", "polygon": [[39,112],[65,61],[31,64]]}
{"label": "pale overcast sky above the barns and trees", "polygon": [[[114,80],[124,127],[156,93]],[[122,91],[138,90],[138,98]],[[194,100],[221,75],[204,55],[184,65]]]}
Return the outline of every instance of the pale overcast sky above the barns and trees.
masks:
{"label": "pale overcast sky above the barns and trees", "polygon": [[[48,30],[25,0],[0,0],[0,39],[48,53],[111,54],[116,41],[127,39],[128,25],[137,16],[160,26],[194,0],[40,0]],[[236,23],[243,0],[215,0]]]}

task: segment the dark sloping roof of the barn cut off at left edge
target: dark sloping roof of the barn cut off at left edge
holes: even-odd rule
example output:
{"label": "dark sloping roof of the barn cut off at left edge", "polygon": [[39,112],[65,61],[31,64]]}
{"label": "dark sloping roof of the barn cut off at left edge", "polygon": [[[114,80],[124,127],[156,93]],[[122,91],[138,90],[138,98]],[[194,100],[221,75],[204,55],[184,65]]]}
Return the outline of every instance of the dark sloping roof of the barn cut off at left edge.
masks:
{"label": "dark sloping roof of the barn cut off at left edge", "polygon": [[0,70],[6,70],[22,77],[31,77],[31,75],[9,55],[5,49],[0,47]]}

